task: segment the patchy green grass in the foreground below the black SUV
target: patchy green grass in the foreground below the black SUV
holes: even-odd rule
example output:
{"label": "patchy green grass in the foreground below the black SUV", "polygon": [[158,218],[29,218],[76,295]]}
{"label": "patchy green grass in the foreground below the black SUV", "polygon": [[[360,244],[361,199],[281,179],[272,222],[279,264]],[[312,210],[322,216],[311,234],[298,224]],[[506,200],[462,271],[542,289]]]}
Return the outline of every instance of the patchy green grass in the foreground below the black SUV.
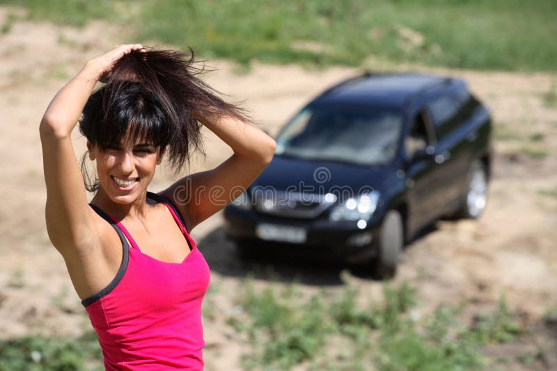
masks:
{"label": "patchy green grass in the foreground below the black SUV", "polygon": [[[246,370],[477,370],[483,345],[508,343],[524,333],[504,299],[473,323],[460,318],[464,305],[440,306],[416,316],[416,289],[385,285],[382,298],[362,303],[352,286],[304,297],[298,288],[242,285],[243,315],[228,324],[247,336]],[[342,344],[342,347],[338,347]],[[528,357],[526,357],[528,358]],[[530,359],[530,358],[528,358]]]}

